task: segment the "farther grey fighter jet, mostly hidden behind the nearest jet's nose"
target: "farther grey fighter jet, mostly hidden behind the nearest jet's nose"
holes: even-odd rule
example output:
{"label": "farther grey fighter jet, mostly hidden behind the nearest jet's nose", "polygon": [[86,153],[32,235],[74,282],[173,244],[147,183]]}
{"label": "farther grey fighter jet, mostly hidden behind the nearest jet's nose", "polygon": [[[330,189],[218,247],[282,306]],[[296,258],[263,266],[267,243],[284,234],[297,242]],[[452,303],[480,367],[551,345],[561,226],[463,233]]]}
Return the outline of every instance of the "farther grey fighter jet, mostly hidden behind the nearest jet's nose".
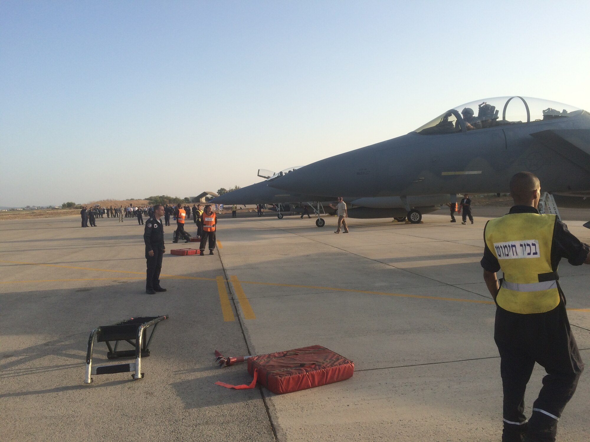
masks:
{"label": "farther grey fighter jet, mostly hidden behind the nearest jet's nose", "polygon": [[[336,204],[336,197],[314,194],[286,193],[277,190],[268,184],[281,180],[297,167],[291,167],[284,171],[273,173],[267,170],[258,170],[258,176],[267,177],[260,183],[241,187],[237,190],[215,197],[210,202],[214,204],[272,204],[271,210],[277,212],[277,217],[282,219],[283,212],[300,212],[303,206],[309,206],[317,215],[316,225],[324,226],[322,214],[334,215],[335,210],[329,206]],[[447,195],[419,196],[409,198],[408,204],[412,207],[408,220],[411,223],[419,223],[422,213],[431,213],[439,209],[439,206],[448,202]],[[405,202],[399,196],[379,198],[350,198],[344,197],[348,204],[348,216],[350,218],[394,218],[403,221],[406,218]]]}

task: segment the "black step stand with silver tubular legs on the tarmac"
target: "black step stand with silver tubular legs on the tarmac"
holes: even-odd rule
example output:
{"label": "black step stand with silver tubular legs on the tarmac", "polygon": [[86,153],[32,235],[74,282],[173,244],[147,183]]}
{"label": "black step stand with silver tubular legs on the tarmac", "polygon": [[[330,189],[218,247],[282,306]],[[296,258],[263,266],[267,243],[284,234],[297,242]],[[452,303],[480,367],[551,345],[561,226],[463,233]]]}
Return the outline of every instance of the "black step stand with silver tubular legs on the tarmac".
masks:
{"label": "black step stand with silver tubular legs on the tarmac", "polygon": [[[86,352],[86,377],[84,384],[92,382],[91,375],[113,374],[133,372],[133,379],[143,378],[142,373],[142,356],[149,356],[149,344],[152,342],[153,334],[156,332],[156,326],[160,321],[168,319],[170,316],[141,316],[139,318],[130,318],[126,321],[117,322],[112,325],[101,325],[90,332],[88,339],[88,351]],[[146,339],[147,329],[153,325],[149,338]],[[126,362],[124,364],[107,364],[92,366],[92,349],[94,338],[96,342],[105,342],[109,352],[107,358],[132,358],[135,356],[135,362]],[[114,347],[111,342],[114,341]],[[120,341],[126,341],[133,345],[135,349],[117,350]]]}

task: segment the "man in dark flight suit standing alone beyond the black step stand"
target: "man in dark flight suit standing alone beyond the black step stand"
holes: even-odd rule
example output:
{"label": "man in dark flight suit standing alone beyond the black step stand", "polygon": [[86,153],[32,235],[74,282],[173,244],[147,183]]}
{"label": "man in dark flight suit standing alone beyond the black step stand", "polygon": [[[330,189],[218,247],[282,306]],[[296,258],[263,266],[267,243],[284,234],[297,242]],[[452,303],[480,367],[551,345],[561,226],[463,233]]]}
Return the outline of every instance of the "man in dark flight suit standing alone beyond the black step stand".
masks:
{"label": "man in dark flight suit standing alone beyond the black step stand", "polygon": [[146,245],[146,293],[155,295],[156,292],[165,292],[160,286],[160,271],[162,270],[162,256],[166,250],[164,246],[164,229],[160,218],[164,215],[162,204],[156,204],[153,216],[148,218],[143,231],[143,242]]}

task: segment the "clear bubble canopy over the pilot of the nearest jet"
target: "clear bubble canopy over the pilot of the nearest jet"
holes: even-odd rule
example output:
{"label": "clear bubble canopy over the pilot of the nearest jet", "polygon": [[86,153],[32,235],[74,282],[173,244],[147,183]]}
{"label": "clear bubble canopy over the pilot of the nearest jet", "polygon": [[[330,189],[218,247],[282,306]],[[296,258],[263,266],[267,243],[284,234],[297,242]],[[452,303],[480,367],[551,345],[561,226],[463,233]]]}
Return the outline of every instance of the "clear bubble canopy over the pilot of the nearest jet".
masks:
{"label": "clear bubble canopy over the pilot of the nearest jet", "polygon": [[496,97],[462,104],[415,130],[438,135],[578,115],[580,108],[530,97]]}

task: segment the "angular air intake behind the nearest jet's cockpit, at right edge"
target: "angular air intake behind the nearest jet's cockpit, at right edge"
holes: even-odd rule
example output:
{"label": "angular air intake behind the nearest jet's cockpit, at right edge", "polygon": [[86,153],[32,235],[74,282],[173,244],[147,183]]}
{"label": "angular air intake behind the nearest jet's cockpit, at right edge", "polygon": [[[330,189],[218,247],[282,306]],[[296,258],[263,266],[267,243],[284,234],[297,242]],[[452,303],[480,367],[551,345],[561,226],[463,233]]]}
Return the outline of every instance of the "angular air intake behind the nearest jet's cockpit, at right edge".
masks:
{"label": "angular air intake behind the nearest jet's cockpit, at right edge", "polygon": [[590,129],[549,129],[530,134],[549,149],[590,171]]}

